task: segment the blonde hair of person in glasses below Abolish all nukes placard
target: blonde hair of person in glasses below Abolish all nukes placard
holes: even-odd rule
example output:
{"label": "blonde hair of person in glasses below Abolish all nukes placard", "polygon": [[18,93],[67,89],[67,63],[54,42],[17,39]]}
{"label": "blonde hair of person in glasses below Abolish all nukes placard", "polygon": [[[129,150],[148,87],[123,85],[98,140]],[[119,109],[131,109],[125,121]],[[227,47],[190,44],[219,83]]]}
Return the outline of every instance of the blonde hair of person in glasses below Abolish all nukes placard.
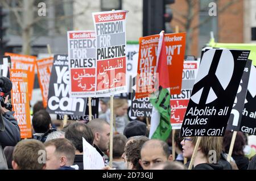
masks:
{"label": "blonde hair of person in glasses below Abolish all nukes placard", "polygon": [[[193,145],[196,145],[197,138],[198,137],[191,137]],[[222,137],[213,137],[213,136],[201,137],[199,148],[201,149],[202,153],[204,153],[205,157],[208,158],[208,160],[210,157],[209,151],[210,150],[216,151],[216,159],[218,161],[221,157]]]}

